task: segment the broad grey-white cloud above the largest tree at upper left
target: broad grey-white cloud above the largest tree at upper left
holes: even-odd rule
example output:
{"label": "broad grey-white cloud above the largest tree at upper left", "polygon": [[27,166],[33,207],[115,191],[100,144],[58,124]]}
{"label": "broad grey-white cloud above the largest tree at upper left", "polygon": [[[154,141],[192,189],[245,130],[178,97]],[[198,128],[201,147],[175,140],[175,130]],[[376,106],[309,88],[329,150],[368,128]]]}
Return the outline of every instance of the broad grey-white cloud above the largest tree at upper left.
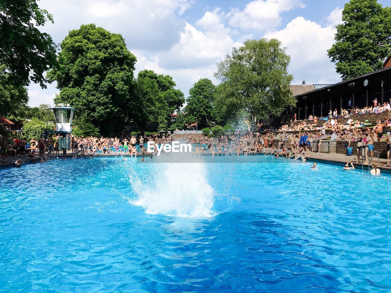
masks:
{"label": "broad grey-white cloud above the largest tree at upper left", "polygon": [[60,43],[68,30],[82,24],[97,26],[120,33],[128,48],[167,50],[179,41],[185,20],[179,16],[190,7],[188,0],[41,0],[39,7],[47,9],[55,25],[48,23],[43,30]]}

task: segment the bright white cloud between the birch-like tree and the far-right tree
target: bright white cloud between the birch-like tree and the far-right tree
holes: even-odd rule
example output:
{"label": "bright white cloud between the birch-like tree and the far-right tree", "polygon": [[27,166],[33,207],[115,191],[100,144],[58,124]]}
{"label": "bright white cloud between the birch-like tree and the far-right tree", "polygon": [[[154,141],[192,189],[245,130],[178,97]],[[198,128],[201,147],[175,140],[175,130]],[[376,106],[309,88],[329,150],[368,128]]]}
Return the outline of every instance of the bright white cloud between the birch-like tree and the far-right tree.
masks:
{"label": "bright white cloud between the birch-like tree and the far-right tree", "polygon": [[[287,47],[291,56],[290,72],[296,80],[305,78],[308,84],[339,81],[327,50],[334,43],[334,25],[322,27],[316,22],[297,17],[277,32],[268,32],[266,38],[276,38]],[[296,82],[297,83],[297,82]]]}

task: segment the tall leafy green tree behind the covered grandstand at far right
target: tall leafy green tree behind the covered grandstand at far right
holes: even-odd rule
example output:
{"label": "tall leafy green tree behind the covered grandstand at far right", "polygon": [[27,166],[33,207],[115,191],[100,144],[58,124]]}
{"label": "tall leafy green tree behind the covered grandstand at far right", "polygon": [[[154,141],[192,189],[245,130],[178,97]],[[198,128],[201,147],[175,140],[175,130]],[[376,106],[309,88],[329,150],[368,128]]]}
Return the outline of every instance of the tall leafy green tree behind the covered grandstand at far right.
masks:
{"label": "tall leafy green tree behind the covered grandstand at far right", "polygon": [[391,54],[391,7],[376,0],[351,0],[342,11],[328,56],[342,79],[382,68]]}

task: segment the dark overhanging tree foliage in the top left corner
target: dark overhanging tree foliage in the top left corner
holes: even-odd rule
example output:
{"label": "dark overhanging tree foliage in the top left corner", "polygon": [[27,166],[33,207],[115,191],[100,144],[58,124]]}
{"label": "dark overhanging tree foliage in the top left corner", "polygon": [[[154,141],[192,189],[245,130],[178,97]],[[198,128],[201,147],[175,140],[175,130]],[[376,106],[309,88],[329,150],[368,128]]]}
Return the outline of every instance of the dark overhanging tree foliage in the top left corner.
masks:
{"label": "dark overhanging tree foliage in the top left corner", "polygon": [[0,64],[16,86],[30,80],[46,88],[44,73],[56,64],[56,45],[38,27],[52,16],[36,0],[0,0]]}

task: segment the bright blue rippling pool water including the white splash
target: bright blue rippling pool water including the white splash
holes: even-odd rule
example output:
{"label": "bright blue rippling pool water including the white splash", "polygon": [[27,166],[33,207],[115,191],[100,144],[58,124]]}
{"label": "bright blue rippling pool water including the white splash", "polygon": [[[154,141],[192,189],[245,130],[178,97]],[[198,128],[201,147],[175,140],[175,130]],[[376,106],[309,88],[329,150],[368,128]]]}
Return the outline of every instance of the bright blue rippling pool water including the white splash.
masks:
{"label": "bright blue rippling pool water including the white splash", "polygon": [[0,292],[391,291],[390,175],[205,160],[0,170]]}

